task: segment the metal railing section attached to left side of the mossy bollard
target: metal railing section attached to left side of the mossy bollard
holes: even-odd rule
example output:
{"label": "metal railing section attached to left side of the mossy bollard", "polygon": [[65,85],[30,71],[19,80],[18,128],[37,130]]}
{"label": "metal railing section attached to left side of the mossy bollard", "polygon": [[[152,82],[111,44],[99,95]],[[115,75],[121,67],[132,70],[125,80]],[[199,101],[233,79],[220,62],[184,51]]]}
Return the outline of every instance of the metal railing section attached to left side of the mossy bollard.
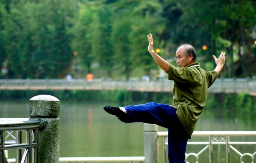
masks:
{"label": "metal railing section attached to left side of the mossy bollard", "polygon": [[[30,120],[29,118],[1,118],[0,163],[36,163],[38,129],[42,128],[44,125],[42,120]],[[4,152],[6,150],[15,150],[15,159],[7,159]]]}

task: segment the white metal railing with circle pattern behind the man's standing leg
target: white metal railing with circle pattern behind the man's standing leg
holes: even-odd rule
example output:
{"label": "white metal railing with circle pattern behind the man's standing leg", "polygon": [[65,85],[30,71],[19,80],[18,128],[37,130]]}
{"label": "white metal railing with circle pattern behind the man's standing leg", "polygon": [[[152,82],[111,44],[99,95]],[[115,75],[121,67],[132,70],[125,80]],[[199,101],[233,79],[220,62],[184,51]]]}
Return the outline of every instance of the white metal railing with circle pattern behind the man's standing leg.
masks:
{"label": "white metal railing with circle pattern behind the man's standing leg", "polygon": [[[164,163],[166,162],[166,145],[168,144],[168,132],[158,132],[158,137],[162,137],[163,145],[163,158]],[[188,158],[194,156],[196,163],[199,162],[199,156],[206,155],[205,151],[209,151],[209,163],[213,163],[213,146],[217,145],[217,155],[218,163],[221,162],[221,145],[225,146],[225,157],[226,163],[230,163],[230,150],[234,151],[237,155],[240,156],[240,163],[243,162],[243,157],[248,156],[254,163],[254,158],[256,156],[256,151],[253,153],[242,153],[234,145],[256,145],[256,141],[230,141],[231,137],[249,137],[256,136],[256,131],[194,131],[192,134],[191,140],[188,141],[188,145],[200,145],[202,149],[197,152],[191,152],[185,154],[185,162],[188,163]],[[196,141],[195,137],[199,137]],[[208,140],[207,140],[208,139]],[[206,141],[202,141],[206,140]]]}

